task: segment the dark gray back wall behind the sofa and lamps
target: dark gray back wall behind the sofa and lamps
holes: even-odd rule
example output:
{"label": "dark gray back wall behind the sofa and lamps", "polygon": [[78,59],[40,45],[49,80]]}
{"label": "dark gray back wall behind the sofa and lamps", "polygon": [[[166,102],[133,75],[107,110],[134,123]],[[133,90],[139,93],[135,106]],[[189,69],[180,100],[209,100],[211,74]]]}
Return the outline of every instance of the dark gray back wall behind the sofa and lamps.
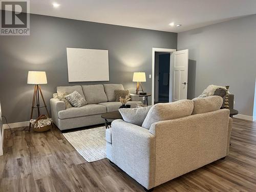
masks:
{"label": "dark gray back wall behind the sofa and lamps", "polygon": [[[143,89],[151,93],[152,48],[177,49],[177,33],[34,14],[30,19],[30,36],[0,36],[0,101],[10,123],[29,120],[33,85],[27,84],[28,71],[47,72],[48,84],[41,88],[50,108],[57,86],[123,83],[135,90],[136,71],[146,72]],[[69,83],[67,47],[109,50],[110,81]]]}

